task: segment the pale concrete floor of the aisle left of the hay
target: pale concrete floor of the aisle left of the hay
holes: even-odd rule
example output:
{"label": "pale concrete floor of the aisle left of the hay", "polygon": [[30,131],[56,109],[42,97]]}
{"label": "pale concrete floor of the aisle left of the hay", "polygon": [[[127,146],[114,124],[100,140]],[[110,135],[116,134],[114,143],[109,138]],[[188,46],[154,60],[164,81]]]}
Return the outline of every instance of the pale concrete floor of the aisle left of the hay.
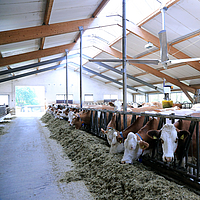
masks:
{"label": "pale concrete floor of the aisle left of the hay", "polygon": [[84,182],[59,181],[73,164],[40,117],[18,116],[0,135],[0,200],[93,199]]}

